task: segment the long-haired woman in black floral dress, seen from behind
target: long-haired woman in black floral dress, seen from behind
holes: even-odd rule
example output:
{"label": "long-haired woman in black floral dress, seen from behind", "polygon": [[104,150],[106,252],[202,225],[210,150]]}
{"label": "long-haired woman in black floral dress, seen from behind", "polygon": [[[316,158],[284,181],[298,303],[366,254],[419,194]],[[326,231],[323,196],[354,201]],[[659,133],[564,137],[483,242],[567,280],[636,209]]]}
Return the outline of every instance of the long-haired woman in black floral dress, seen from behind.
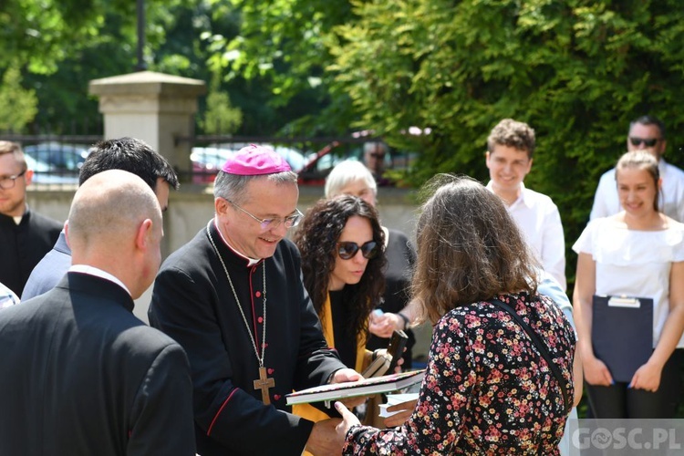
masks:
{"label": "long-haired woman in black floral dress, seen from behind", "polygon": [[444,174],[428,190],[413,294],[435,326],[419,399],[389,430],[336,402],[343,452],[558,454],[579,400],[573,329],[536,293],[537,264],[499,197]]}

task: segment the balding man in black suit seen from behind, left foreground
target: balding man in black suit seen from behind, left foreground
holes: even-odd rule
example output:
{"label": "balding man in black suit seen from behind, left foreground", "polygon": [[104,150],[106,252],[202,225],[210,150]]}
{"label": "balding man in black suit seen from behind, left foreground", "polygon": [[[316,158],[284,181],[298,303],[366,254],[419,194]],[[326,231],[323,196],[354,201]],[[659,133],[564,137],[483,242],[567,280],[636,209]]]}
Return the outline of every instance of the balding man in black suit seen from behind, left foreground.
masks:
{"label": "balding man in black suit seen from behind, left foreground", "polygon": [[140,177],[104,171],[78,189],[67,275],[0,310],[0,454],[195,454],[188,358],[132,313],[162,233]]}

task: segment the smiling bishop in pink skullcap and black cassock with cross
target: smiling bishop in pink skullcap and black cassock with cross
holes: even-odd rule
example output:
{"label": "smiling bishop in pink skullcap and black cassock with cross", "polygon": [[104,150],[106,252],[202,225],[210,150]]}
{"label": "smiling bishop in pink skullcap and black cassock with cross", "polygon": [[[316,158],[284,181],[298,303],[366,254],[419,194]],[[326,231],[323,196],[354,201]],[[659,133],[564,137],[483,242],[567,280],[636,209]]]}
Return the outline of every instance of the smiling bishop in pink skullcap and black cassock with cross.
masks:
{"label": "smiling bishop in pink skullcap and black cassock with cross", "polygon": [[298,197],[278,154],[240,150],[214,183],[215,217],[157,275],[150,324],[190,358],[202,456],[341,451],[329,446],[339,420],[315,424],[285,405],[293,389],[360,378],[327,347],[285,239]]}

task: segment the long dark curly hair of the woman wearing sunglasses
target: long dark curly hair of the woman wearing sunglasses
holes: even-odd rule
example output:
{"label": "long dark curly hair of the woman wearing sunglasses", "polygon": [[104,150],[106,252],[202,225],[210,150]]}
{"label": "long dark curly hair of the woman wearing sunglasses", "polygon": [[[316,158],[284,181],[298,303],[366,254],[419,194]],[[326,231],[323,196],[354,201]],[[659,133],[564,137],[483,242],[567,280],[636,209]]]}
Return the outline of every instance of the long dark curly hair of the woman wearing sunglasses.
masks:
{"label": "long dark curly hair of the woman wearing sunglasses", "polygon": [[318,316],[322,316],[330,275],[335,269],[337,241],[347,220],[354,215],[368,219],[373,241],[382,247],[378,256],[368,261],[358,284],[346,285],[342,289],[349,310],[345,324],[349,334],[363,333],[368,336],[368,315],[378,304],[385,289],[385,234],[378,222],[378,212],[356,196],[340,195],[331,200],[321,200],[306,211],[304,220],[297,227],[294,241],[302,254],[304,285]]}

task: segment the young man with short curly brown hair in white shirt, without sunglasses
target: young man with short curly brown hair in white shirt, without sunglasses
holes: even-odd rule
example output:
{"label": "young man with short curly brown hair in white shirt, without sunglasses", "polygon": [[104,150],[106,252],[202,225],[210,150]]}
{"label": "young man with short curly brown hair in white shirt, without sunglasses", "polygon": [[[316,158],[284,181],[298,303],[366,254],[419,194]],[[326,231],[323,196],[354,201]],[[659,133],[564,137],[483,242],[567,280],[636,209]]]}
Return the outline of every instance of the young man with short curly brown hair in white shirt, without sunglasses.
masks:
{"label": "young man with short curly brown hair in white shirt, without sunglasses", "polygon": [[487,138],[487,188],[503,199],[544,270],[565,290],[565,236],[558,208],[523,184],[532,169],[534,146],[529,125],[513,119],[499,122]]}

